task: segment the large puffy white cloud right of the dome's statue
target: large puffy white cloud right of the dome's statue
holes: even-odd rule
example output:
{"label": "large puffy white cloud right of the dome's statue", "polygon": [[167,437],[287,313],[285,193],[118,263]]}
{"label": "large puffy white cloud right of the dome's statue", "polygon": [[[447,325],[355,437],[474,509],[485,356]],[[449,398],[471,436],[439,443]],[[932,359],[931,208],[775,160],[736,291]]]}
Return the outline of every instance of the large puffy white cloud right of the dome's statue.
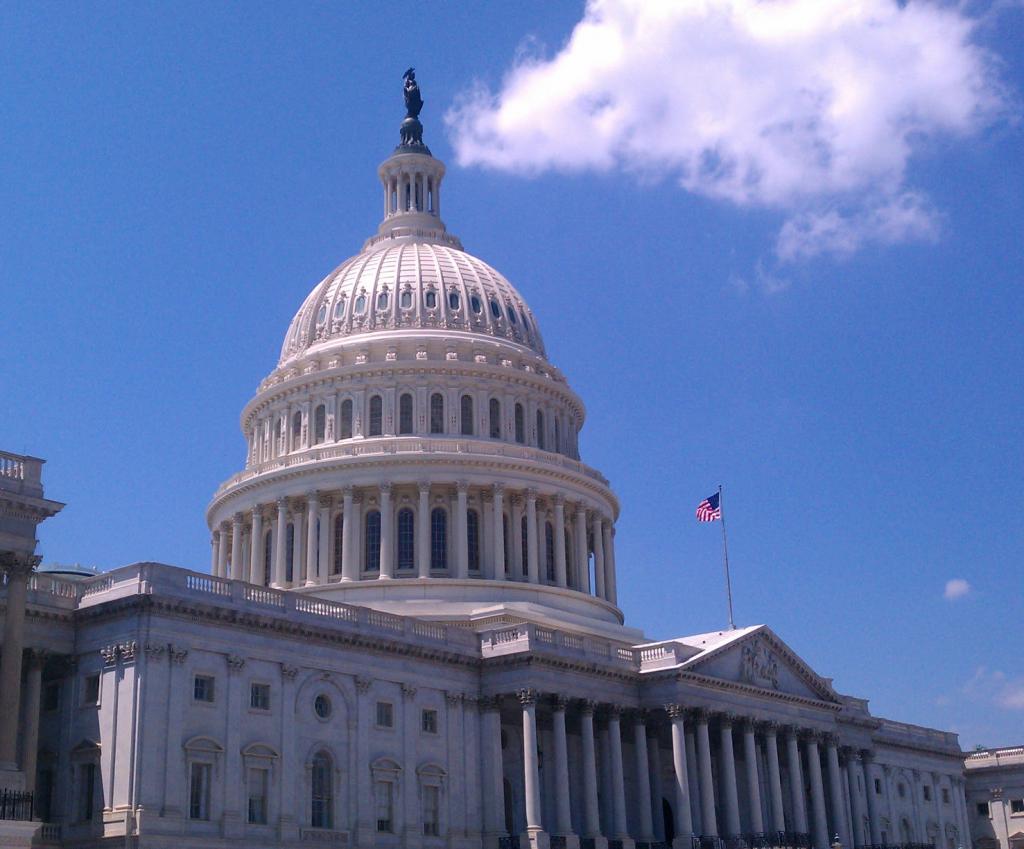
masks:
{"label": "large puffy white cloud right of the dome's statue", "polygon": [[782,261],[932,240],[906,183],[929,137],[1007,98],[962,6],[896,0],[591,0],[567,43],[449,112],[459,162],[667,177],[784,212]]}

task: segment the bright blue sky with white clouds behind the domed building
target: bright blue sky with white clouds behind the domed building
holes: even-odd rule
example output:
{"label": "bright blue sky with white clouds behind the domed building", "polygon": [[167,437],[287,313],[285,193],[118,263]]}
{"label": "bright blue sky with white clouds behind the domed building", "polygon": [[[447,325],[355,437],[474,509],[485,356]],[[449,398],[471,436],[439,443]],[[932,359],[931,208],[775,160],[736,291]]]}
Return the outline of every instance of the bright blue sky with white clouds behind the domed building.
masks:
{"label": "bright blue sky with white clouds behind the domed building", "polygon": [[724,625],[723,483],[739,624],[878,714],[1024,741],[1021,6],[694,5],[0,8],[0,448],[68,503],[46,559],[208,567],[414,65],[449,227],[588,406],[628,621]]}

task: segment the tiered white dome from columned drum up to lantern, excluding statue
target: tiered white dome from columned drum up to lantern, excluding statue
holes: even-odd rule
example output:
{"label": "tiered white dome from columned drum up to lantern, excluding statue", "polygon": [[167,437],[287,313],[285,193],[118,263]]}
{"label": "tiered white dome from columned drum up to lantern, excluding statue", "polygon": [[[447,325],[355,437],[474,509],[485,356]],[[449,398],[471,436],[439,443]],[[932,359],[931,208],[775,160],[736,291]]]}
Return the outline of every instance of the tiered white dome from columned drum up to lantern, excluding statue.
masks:
{"label": "tiered white dome from columned drum up to lantern, excluding statue", "polygon": [[552,587],[621,623],[618,506],[579,461],[583,404],[518,292],[445,230],[443,172],[422,145],[382,164],[377,235],[305,299],[243,412],[247,468],[207,511],[211,571],[275,588],[417,578],[452,599],[484,579],[506,587],[496,601]]}

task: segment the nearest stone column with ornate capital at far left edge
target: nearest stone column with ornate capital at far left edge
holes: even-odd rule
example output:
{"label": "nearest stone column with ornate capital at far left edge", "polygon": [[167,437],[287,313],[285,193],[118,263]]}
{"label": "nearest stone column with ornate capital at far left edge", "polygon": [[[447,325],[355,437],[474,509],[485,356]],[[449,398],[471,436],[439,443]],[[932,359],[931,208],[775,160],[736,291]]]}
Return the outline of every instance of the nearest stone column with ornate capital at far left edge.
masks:
{"label": "nearest stone column with ornate capital at far left edge", "polygon": [[39,565],[33,554],[0,554],[7,576],[7,613],[0,652],[0,772],[17,769],[17,715],[22,707],[22,649],[25,646],[25,604],[29,576]]}

